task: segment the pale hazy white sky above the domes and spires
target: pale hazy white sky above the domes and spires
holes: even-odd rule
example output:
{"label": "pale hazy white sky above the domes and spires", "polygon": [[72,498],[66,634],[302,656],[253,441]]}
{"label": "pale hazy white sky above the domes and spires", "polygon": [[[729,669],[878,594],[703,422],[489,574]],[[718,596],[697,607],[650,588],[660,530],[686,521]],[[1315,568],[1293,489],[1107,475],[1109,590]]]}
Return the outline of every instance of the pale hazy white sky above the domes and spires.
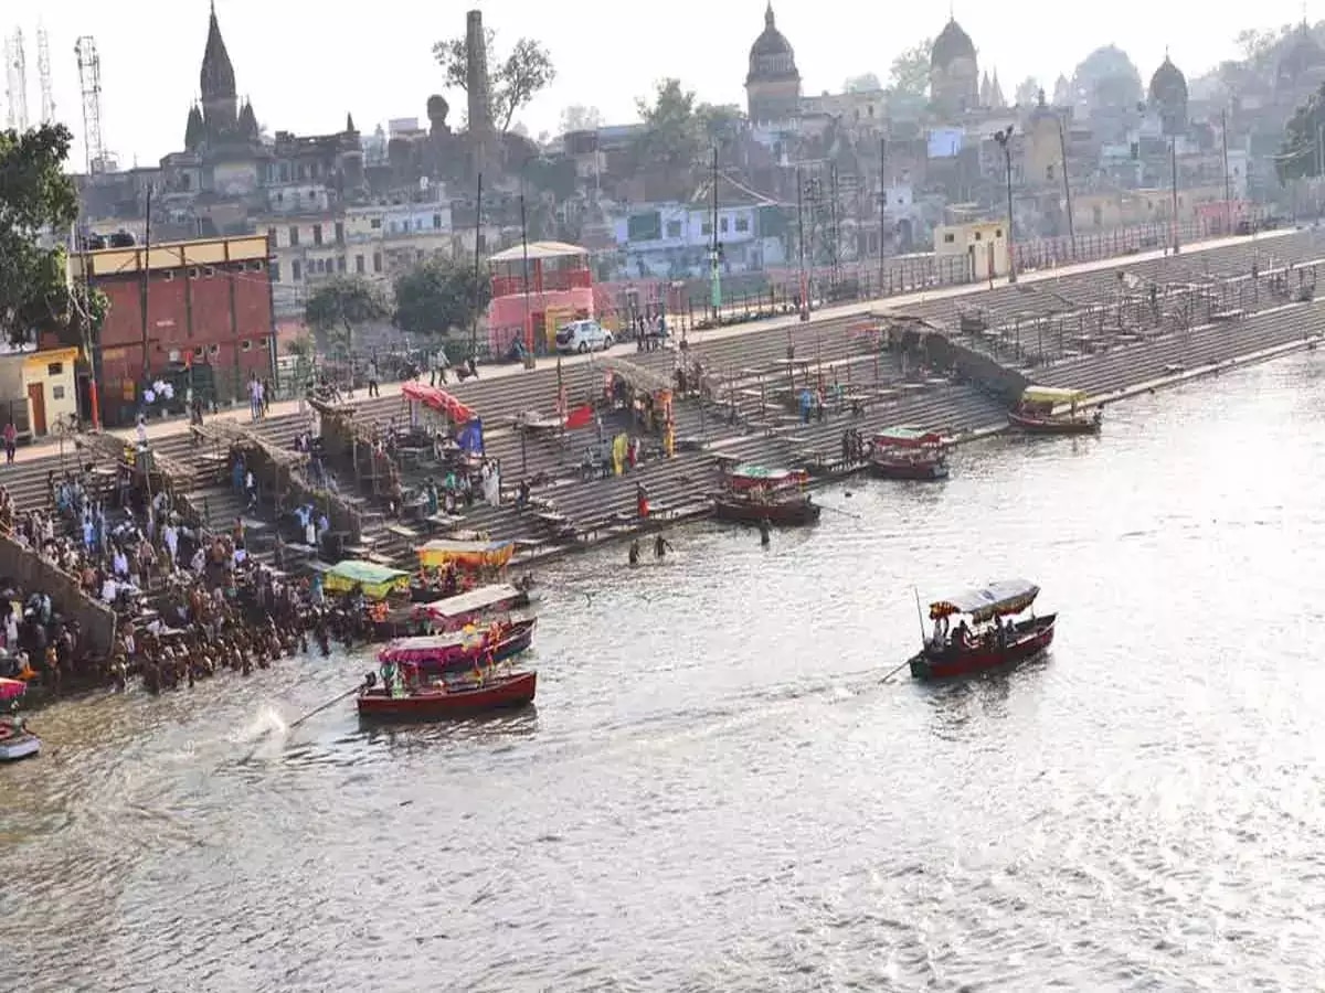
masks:
{"label": "pale hazy white sky above the domes and spires", "polygon": [[[425,118],[424,102],[441,86],[432,42],[458,34],[465,11],[478,5],[504,41],[539,38],[558,78],[521,115],[535,135],[555,131],[562,107],[596,106],[611,123],[635,119],[635,98],[655,81],[676,75],[713,102],[743,103],[750,44],[763,29],[765,0],[666,0],[659,4],[571,0],[374,0],[360,4],[288,4],[217,0],[221,30],[240,95],[253,101],[270,130],[322,134],[343,127],[346,111],[360,131],[387,118]],[[82,102],[74,41],[97,40],[102,61],[102,134],[122,166],[148,164],[184,140],[189,101],[207,38],[207,0],[136,0],[107,4],[61,0],[45,28],[50,40],[56,115],[74,130],[82,166]],[[975,3],[957,0],[957,20],[974,38],[980,66],[999,70],[1004,93],[1027,75],[1052,87],[1057,74],[1093,48],[1125,48],[1142,77],[1167,48],[1189,74],[1236,52],[1242,28],[1269,28],[1325,17],[1300,0],[1257,4],[1155,4],[1142,0],[1076,4],[1064,0]],[[28,113],[40,115],[38,4],[5,4],[0,30],[21,28],[28,57]],[[934,36],[947,4],[878,4],[859,0],[775,0],[778,26],[796,50],[806,93],[840,90],[848,75],[886,77],[904,48]],[[29,13],[30,11],[30,13]],[[343,13],[341,13],[343,11]],[[500,53],[500,52],[498,52]],[[450,99],[461,119],[462,94]],[[0,123],[3,123],[0,117]]]}

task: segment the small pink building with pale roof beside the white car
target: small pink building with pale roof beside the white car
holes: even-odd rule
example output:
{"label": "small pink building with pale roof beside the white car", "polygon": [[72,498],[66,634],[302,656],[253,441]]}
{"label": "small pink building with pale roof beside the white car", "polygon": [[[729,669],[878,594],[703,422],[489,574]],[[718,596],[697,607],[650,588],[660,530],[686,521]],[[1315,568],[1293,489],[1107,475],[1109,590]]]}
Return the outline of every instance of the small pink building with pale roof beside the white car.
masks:
{"label": "small pink building with pale roof beside the white car", "polygon": [[[527,286],[525,261],[529,261]],[[493,299],[488,305],[488,347],[505,355],[517,338],[535,354],[553,350],[556,328],[592,318],[594,274],[588,250],[560,241],[534,241],[488,260]]]}

